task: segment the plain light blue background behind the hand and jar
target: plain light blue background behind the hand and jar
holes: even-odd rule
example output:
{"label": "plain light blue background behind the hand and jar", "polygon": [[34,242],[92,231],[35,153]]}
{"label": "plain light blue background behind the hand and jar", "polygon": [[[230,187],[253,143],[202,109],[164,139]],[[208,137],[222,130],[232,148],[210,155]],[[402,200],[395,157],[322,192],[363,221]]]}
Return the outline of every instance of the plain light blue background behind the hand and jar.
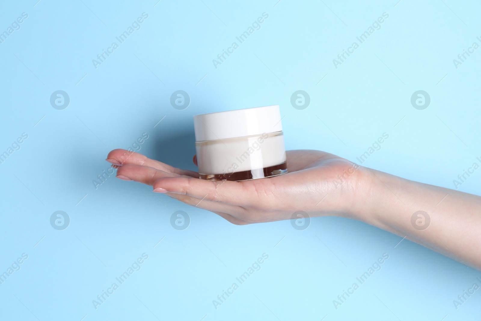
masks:
{"label": "plain light blue background behind the hand and jar", "polygon": [[[279,104],[287,149],[356,161],[386,132],[363,165],[454,188],[481,156],[481,49],[453,64],[481,44],[479,1],[36,2],[0,9],[0,31],[28,14],[0,44],[0,153],[28,134],[0,164],[1,272],[28,255],[0,284],[1,320],[479,317],[480,291],[457,310],[453,300],[480,284],[481,272],[367,224],[325,217],[304,231],[290,221],[235,226],[135,182],[92,184],[109,168],[107,153],[144,132],[140,153],[195,170],[192,115]],[[140,30],[95,69],[92,59],[143,12]],[[217,54],[264,12],[261,29],[216,69]],[[384,12],[381,29],[336,69],[332,60]],[[52,108],[55,90],[69,94],[68,108]],[[170,105],[175,90],[189,93],[187,109]],[[307,109],[291,106],[295,90],[309,93]],[[430,94],[429,108],[413,108],[416,90]],[[479,195],[480,183],[478,170],[459,190]],[[50,225],[57,210],[71,219],[63,231]],[[190,216],[184,231],[170,225],[177,210]],[[95,309],[92,300],[142,253],[141,270]],[[263,253],[261,270],[215,309],[216,296]],[[335,309],[383,253],[382,269]]]}

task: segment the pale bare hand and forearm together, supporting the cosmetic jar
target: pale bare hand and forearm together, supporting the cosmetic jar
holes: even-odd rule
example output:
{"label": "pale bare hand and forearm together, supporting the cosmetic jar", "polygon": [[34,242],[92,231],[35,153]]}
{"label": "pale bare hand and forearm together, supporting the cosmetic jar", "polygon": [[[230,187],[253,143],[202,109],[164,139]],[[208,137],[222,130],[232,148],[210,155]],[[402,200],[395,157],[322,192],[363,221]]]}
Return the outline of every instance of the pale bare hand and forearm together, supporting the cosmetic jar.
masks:
{"label": "pale bare hand and forearm together, supporting the cosmetic jar", "polygon": [[[286,153],[289,173],[241,182],[200,180],[197,172],[123,149],[111,151],[107,161],[117,168],[117,178],[151,185],[156,193],[214,212],[233,224],[291,219],[297,211],[310,217],[352,218],[481,270],[480,196],[367,167],[354,169],[352,162],[321,151]],[[420,210],[430,217],[425,230],[411,223]]]}

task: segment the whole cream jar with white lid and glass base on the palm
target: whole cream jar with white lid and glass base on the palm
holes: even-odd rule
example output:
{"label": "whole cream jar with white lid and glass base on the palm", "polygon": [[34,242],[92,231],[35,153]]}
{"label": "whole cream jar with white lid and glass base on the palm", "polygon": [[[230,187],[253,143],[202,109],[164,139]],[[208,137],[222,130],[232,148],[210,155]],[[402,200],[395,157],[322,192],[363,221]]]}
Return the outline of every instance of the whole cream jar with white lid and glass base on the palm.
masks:
{"label": "whole cream jar with white lid and glass base on the palm", "polygon": [[199,178],[254,180],[287,173],[279,106],[194,115]]}

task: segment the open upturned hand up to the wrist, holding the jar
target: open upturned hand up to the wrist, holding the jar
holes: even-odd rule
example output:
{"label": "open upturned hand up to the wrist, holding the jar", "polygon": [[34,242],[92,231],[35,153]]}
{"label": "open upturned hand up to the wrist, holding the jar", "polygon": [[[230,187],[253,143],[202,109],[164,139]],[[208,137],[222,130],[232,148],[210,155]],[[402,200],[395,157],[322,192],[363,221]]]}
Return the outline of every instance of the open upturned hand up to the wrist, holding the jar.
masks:
{"label": "open upturned hand up to the wrist, holding the jar", "polygon": [[197,172],[123,149],[110,152],[107,161],[120,179],[152,185],[154,192],[239,225],[290,219],[299,210],[310,216],[349,216],[363,199],[364,167],[315,150],[288,151],[286,174],[241,182],[201,180]]}

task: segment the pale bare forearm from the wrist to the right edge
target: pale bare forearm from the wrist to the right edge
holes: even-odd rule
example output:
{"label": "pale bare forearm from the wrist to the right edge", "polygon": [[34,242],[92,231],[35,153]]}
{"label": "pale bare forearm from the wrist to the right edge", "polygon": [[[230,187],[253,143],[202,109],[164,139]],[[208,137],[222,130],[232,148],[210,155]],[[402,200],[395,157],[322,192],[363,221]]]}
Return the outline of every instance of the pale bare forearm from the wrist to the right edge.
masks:
{"label": "pale bare forearm from the wrist to the right edge", "polygon": [[354,217],[481,270],[480,196],[366,172]]}

